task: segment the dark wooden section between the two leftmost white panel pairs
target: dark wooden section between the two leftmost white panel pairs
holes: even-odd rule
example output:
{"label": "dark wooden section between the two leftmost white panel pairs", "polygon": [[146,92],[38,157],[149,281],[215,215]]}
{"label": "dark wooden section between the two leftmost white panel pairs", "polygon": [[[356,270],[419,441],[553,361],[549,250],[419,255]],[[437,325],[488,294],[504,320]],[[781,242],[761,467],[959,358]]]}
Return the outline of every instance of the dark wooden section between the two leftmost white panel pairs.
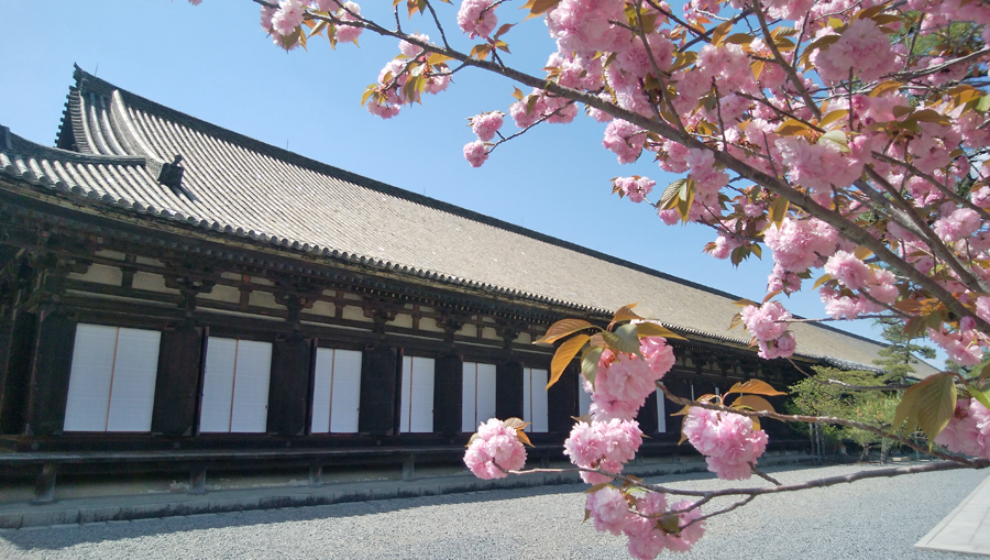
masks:
{"label": "dark wooden section between the two leftmost white panel pairs", "polygon": [[162,332],[152,432],[166,436],[195,433],[202,372],[202,329],[193,323]]}

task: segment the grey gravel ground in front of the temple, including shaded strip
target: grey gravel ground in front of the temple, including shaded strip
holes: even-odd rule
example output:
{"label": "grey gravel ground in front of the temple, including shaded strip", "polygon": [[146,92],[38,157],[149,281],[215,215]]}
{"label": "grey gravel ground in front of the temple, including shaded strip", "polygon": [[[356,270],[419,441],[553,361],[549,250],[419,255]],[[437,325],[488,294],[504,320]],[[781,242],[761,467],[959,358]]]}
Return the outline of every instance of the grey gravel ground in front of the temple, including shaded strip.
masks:
{"label": "grey gravel ground in front of the temple, including shaded strip", "polygon": [[[787,484],[854,470],[771,472]],[[694,550],[676,558],[946,560],[954,556],[917,551],[913,545],[986,476],[986,471],[947,471],[763,496],[711,519]],[[726,485],[698,474],[650,482]],[[626,558],[624,538],[581,524],[582,490],[506,490],[0,530],[0,558]]]}

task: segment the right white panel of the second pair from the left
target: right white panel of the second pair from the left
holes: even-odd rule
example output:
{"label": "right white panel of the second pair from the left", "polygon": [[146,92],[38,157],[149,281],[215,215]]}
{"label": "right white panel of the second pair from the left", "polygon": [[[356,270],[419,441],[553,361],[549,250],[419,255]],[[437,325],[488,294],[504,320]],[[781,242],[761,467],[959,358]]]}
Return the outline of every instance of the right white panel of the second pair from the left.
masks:
{"label": "right white panel of the second pair from the left", "polygon": [[234,372],[233,408],[230,431],[263,433],[268,419],[268,380],[272,374],[272,343],[241,340],[238,342],[238,367]]}

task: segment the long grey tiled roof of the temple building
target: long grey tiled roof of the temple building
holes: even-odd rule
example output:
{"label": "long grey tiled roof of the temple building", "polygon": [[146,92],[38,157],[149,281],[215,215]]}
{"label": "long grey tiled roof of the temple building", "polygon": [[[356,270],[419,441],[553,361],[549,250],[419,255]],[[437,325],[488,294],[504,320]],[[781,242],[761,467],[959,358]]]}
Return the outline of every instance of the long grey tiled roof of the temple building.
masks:
{"label": "long grey tiled roof of the temple building", "polygon": [[[81,70],[57,144],[7,134],[0,173],[220,234],[590,312],[630,301],[685,333],[739,343],[737,298],[384,185],[154,103]],[[80,153],[76,153],[78,151]],[[158,171],[182,155],[185,191]],[[799,353],[869,365],[882,345],[794,325]]]}

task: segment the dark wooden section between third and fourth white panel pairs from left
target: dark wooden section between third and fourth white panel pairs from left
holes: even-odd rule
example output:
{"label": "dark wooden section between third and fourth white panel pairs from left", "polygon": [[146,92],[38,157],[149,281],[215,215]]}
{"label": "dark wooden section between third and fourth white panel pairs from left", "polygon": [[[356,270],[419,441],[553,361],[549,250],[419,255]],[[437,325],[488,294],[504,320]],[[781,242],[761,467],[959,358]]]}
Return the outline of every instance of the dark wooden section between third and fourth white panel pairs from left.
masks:
{"label": "dark wooden section between third and fourth white panel pairs from left", "polygon": [[361,360],[361,409],[358,431],[376,436],[395,432],[397,364],[394,348],[370,347]]}

